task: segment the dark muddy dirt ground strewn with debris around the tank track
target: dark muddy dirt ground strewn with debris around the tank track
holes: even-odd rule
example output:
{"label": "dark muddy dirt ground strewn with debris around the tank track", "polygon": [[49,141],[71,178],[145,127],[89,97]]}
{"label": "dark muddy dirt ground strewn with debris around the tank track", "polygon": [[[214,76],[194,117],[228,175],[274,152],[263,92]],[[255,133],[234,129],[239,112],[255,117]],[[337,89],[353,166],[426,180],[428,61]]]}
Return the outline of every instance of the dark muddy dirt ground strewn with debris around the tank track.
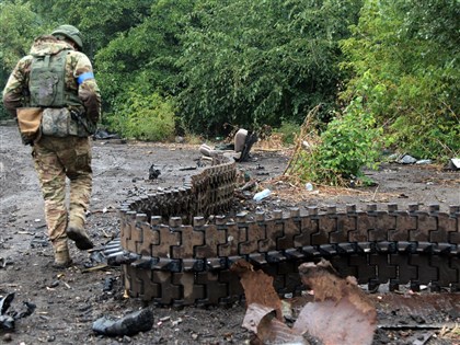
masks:
{"label": "dark muddy dirt ground strewn with debris around the tank track", "polygon": [[[142,303],[123,297],[120,273],[117,267],[88,271],[90,255],[71,244],[74,265],[56,271],[50,267],[53,251],[46,239],[43,199],[33,169],[31,148],[21,143],[15,126],[0,126],[0,297],[14,292],[10,309],[23,308],[23,302],[36,304],[34,313],[16,321],[13,332],[0,330],[0,343],[10,344],[244,344],[251,333],[241,324],[244,306],[230,308],[194,308],[181,310],[154,308],[153,329],[124,337],[95,335],[92,323],[100,317],[119,318],[138,310]],[[333,189],[314,186],[313,192],[296,189],[279,176],[288,162],[288,151],[252,151],[250,162],[238,166],[261,185],[274,193],[271,207],[396,203],[400,209],[410,204],[421,208],[440,205],[460,205],[460,172],[434,165],[384,164],[378,171],[367,172],[377,185],[368,188]],[[159,187],[181,185],[187,174],[196,173],[200,154],[197,146],[183,143],[122,143],[119,140],[93,142],[94,185],[88,230],[96,249],[102,249],[117,237],[119,227],[117,206],[133,194],[143,194]],[[161,171],[150,181],[149,168]],[[249,203],[249,202],[248,202]],[[248,206],[251,208],[251,206]],[[114,286],[104,291],[104,283],[112,278]],[[426,292],[427,295],[430,295]],[[460,344],[460,295],[451,300],[453,314],[444,318],[439,310],[432,317],[436,325],[411,330],[379,330],[373,344]],[[387,311],[379,309],[382,320]],[[388,311],[391,315],[391,312]],[[442,317],[442,318],[441,318]],[[406,318],[411,319],[410,314]],[[433,321],[435,323],[435,321]],[[444,331],[442,324],[450,325]],[[423,341],[424,336],[428,340]],[[418,342],[418,343],[416,343]]]}

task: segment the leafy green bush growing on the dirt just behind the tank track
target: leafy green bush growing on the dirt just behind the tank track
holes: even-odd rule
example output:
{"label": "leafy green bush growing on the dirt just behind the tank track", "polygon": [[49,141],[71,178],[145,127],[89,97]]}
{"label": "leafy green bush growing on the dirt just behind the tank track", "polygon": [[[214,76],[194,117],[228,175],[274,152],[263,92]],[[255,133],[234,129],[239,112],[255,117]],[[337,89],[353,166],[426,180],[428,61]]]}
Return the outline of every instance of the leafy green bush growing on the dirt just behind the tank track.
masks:
{"label": "leafy green bush growing on the dirt just behind the tank track", "polygon": [[367,82],[364,79],[356,97],[327,124],[318,143],[300,151],[292,171],[301,181],[343,185],[350,179],[363,180],[363,168],[376,168],[383,130],[366,101],[368,93],[378,91],[369,90]]}

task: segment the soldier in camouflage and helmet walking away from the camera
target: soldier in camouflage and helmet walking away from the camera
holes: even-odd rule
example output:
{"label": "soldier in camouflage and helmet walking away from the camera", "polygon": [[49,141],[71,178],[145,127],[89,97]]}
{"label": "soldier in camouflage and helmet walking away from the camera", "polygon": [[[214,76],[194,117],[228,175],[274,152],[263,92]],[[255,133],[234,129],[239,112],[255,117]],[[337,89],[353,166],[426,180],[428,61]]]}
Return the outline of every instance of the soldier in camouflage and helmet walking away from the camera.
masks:
{"label": "soldier in camouflage and helmet walking away from the camera", "polygon": [[[82,48],[80,31],[72,25],[36,38],[3,90],[4,107],[14,117],[30,108],[38,108],[42,116],[38,137],[22,135],[22,139],[32,146],[54,266],[59,268],[71,264],[68,239],[80,250],[93,248],[84,230],[92,189],[89,136],[100,118],[101,94]],[[69,209],[66,176],[70,181]]]}

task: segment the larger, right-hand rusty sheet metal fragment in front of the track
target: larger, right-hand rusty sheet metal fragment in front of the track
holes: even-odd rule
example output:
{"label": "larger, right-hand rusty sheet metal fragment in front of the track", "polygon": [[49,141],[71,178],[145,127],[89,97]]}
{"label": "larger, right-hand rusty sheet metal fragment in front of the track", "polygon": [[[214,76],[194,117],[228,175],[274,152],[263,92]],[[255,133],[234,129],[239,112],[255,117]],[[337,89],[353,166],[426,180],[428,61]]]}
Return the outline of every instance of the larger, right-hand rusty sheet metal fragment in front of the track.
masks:
{"label": "larger, right-hand rusty sheet metal fragment in front of the track", "polygon": [[304,263],[299,266],[302,283],[313,289],[314,302],[307,303],[292,326],[325,345],[371,344],[377,326],[373,303],[356,285],[356,279],[340,278],[331,264]]}

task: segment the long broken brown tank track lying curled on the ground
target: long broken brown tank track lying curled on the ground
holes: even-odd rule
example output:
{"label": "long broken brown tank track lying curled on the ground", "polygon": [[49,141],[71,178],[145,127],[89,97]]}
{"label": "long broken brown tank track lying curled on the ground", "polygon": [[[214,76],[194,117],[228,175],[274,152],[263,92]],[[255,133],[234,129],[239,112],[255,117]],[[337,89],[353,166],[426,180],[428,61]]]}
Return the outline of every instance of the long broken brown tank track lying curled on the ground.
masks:
{"label": "long broken brown tank track lying curled on the ground", "polygon": [[459,290],[460,206],[211,216],[230,209],[235,175],[233,160],[216,158],[182,187],[120,206],[120,239],[105,254],[122,265],[130,297],[161,306],[234,302],[243,290],[229,267],[240,258],[272,275],[279,294],[300,292],[297,267],[321,257],[369,289],[389,283],[390,290]]}

